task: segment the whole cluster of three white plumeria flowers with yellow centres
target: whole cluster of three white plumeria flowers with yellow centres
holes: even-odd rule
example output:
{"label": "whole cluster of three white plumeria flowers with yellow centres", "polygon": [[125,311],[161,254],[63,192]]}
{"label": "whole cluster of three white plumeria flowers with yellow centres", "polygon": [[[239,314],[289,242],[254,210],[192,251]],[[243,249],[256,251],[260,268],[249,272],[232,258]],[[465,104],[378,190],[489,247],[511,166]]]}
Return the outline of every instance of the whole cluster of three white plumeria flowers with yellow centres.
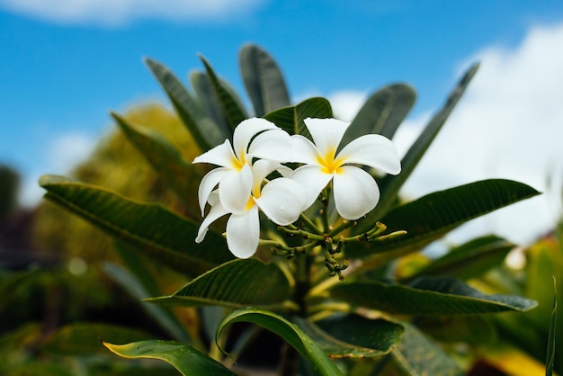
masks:
{"label": "whole cluster of three white plumeria flowers with yellow centres", "polygon": [[[401,168],[393,143],[367,134],[337,152],[349,123],[308,118],[305,125],[312,140],[290,136],[265,119],[248,119],[235,129],[232,145],[225,140],[193,160],[219,166],[201,180],[201,215],[208,203],[210,211],[196,242],[213,221],[230,214],[228,249],[239,258],[250,257],[260,242],[259,210],[277,225],[288,226],[331,183],[335,210],[343,219],[360,219],[375,208],[380,190],[360,166],[397,175]],[[291,170],[286,163],[300,166]]]}

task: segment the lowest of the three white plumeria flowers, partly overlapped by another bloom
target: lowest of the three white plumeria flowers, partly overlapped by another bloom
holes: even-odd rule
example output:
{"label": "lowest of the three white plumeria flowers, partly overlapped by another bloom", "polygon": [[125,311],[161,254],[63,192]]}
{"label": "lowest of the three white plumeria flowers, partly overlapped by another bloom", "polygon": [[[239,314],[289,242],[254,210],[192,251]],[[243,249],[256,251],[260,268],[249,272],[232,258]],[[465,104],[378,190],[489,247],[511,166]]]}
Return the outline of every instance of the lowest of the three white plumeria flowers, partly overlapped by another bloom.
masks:
{"label": "lowest of the three white plumeria flowers, partly overlapped by another bloom", "polygon": [[201,243],[210,224],[230,213],[227,221],[228,249],[238,258],[248,258],[255,254],[260,241],[258,210],[262,210],[266,217],[281,226],[295,222],[304,209],[303,188],[285,177],[273,179],[262,186],[266,176],[279,167],[278,163],[264,159],[257,160],[252,167],[248,166],[253,182],[251,189],[246,193],[241,210],[228,210],[223,205],[224,198],[219,198],[219,190],[211,192],[209,196],[211,210],[201,222],[195,241]]}

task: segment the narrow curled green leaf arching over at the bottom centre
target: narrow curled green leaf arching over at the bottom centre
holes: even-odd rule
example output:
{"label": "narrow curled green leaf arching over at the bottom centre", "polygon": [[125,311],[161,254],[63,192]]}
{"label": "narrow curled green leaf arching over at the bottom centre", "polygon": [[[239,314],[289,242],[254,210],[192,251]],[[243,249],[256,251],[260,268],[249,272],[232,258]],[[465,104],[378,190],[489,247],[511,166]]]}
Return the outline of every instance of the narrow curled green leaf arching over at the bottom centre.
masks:
{"label": "narrow curled green leaf arching over at the bottom centre", "polygon": [[[237,309],[228,315],[217,328],[215,342],[218,345],[219,337],[223,330],[237,322],[253,323],[281,336],[284,341],[293,346],[299,354],[303,355],[313,365],[318,375],[334,376],[343,374],[315,341],[303,333],[297,325],[273,312],[263,309]],[[221,351],[225,353],[223,349]]]}

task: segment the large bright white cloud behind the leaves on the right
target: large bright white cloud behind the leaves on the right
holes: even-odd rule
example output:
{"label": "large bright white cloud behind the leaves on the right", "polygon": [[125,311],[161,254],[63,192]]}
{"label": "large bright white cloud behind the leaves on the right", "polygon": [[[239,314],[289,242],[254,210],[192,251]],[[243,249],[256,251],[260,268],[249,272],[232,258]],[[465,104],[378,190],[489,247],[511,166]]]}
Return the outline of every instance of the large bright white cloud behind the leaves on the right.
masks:
{"label": "large bright white cloud behind the leaves on the right", "polygon": [[[487,178],[512,179],[545,192],[551,174],[555,174],[556,184],[553,192],[470,222],[451,235],[452,241],[496,233],[526,243],[552,228],[561,214],[561,46],[563,24],[536,27],[514,49],[493,46],[469,59],[481,62],[478,74],[404,192],[419,197]],[[456,77],[461,73],[459,70]],[[399,151],[405,152],[428,118],[424,114],[399,128]]]}

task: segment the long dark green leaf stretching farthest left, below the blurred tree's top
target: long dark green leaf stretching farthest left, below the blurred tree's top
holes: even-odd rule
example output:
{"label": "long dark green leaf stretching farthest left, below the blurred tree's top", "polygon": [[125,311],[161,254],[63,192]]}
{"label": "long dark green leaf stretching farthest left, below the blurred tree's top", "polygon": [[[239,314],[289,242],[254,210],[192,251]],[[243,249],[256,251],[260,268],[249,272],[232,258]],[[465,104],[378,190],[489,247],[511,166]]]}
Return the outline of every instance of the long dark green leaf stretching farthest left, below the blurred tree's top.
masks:
{"label": "long dark green leaf stretching farthest left, below the blurred tree's top", "polygon": [[159,204],[57,175],[41,176],[40,185],[47,199],[180,273],[196,276],[233,258],[219,234],[210,231],[196,244],[198,226]]}

